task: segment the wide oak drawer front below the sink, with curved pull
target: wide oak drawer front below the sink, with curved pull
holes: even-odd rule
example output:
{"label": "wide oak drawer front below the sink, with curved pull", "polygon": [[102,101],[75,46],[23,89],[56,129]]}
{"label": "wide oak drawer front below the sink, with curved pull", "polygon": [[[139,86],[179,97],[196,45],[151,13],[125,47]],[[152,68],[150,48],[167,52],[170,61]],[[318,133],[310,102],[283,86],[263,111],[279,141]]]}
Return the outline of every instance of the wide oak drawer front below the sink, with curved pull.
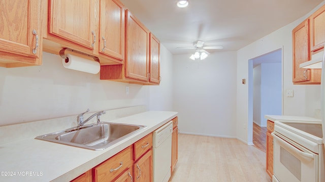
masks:
{"label": "wide oak drawer front below the sink, with curved pull", "polygon": [[128,147],[93,168],[93,179],[94,181],[112,181],[125,169],[132,167],[132,164],[131,147]]}

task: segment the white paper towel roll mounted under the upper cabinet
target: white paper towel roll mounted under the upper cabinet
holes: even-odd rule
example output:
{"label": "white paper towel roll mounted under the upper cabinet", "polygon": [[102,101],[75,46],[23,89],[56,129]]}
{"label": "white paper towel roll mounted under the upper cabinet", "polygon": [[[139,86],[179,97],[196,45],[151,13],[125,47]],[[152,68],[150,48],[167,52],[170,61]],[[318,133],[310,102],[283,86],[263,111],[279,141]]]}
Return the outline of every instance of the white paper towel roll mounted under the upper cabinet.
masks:
{"label": "white paper towel roll mounted under the upper cabinet", "polygon": [[97,61],[91,61],[75,55],[66,54],[67,59],[62,59],[64,68],[97,74],[100,72],[101,65]]}

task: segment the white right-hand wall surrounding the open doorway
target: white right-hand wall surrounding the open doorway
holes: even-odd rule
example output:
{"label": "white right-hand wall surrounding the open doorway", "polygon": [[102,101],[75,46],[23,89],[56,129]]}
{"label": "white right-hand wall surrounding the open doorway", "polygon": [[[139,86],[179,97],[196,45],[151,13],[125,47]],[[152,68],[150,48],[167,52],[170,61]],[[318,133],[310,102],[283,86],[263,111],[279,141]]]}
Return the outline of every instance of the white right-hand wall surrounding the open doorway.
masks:
{"label": "white right-hand wall surrounding the open doorway", "polygon": [[[293,85],[292,30],[324,4],[325,2],[322,2],[306,16],[254,41],[237,52],[237,82],[240,82],[243,78],[248,78],[248,60],[283,48],[283,90],[294,90],[293,98],[284,97],[283,99],[284,115],[314,116],[315,109],[320,109],[319,85]],[[252,124],[248,123],[249,107],[251,105],[248,103],[248,84],[239,84],[237,86],[237,138],[244,142],[248,142],[246,126]]]}

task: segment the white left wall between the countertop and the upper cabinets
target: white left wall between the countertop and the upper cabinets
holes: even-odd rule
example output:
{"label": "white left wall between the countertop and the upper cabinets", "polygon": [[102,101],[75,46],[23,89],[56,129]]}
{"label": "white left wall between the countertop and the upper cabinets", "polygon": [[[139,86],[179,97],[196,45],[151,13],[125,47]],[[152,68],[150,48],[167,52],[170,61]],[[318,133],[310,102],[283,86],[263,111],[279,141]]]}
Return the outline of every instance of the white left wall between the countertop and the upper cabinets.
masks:
{"label": "white left wall between the countertop and the upper cabinets", "polygon": [[[162,76],[169,74],[172,58],[163,46],[160,58]],[[171,84],[171,77],[164,82]],[[94,112],[147,105],[148,110],[172,110],[171,94],[159,97],[168,88],[164,82],[151,88],[100,80],[99,74],[63,68],[59,56],[43,53],[42,66],[0,67],[0,125],[77,115],[87,108]]]}

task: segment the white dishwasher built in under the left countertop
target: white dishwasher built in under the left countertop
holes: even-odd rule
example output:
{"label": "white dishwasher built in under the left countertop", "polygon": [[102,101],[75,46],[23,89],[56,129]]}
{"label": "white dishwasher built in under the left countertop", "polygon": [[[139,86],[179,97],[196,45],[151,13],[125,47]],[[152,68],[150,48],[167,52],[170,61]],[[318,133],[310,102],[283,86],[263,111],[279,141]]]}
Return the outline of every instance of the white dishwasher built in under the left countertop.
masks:
{"label": "white dishwasher built in under the left countertop", "polygon": [[167,182],[171,177],[173,122],[153,131],[153,182]]}

